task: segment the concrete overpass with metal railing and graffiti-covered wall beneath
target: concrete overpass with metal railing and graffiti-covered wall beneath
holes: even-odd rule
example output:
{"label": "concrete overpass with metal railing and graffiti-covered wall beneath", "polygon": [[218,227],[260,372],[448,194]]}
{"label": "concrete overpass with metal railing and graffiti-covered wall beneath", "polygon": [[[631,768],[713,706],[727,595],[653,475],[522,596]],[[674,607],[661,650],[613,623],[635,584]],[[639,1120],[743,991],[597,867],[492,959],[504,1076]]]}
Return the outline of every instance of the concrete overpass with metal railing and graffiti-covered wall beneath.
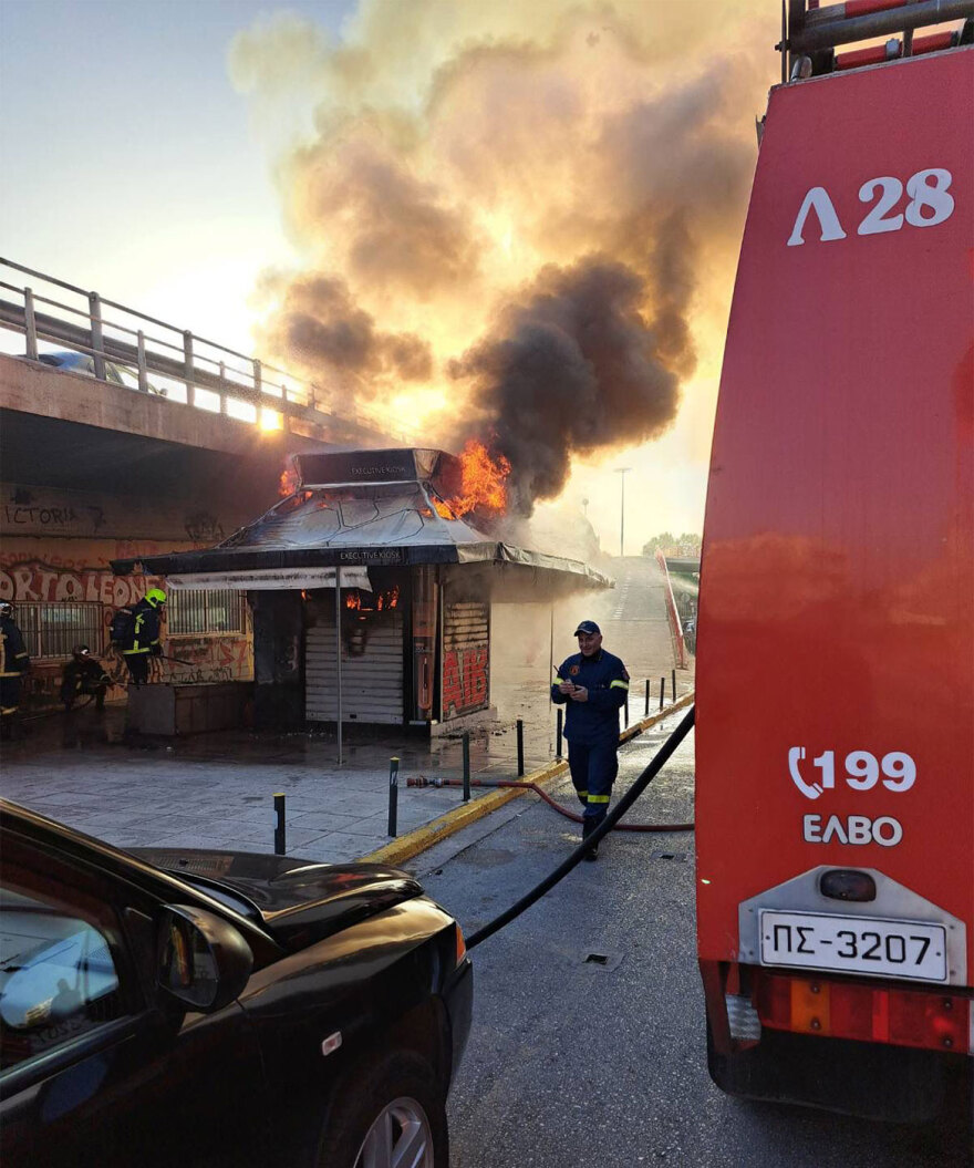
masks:
{"label": "concrete overpass with metal railing and graffiti-covered wall beneath", "polygon": [[[341,395],[7,260],[0,331],[0,598],[30,702],[56,701],[71,645],[105,656],[114,611],[149,586],[113,561],[221,542],[276,502],[288,454],[401,444]],[[232,590],[174,598],[156,680],[246,680],[250,630]],[[105,661],[120,696],[124,665]]]}

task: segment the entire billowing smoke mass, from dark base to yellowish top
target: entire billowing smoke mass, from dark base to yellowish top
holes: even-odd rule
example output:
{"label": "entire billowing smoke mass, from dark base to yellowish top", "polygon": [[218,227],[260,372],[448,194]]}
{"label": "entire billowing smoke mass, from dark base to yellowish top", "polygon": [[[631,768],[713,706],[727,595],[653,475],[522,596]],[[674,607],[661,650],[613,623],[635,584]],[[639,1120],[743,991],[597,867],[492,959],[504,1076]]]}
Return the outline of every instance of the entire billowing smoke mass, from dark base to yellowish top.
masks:
{"label": "entire billowing smoke mass, from dark base to yellowish top", "polygon": [[479,437],[528,515],[573,457],[674,423],[696,341],[705,461],[777,32],[712,7],[359,0],[338,41],[280,14],[241,34],[257,109],[293,88],[312,114],[277,167],[307,270],[272,288],[267,356],[424,442]]}

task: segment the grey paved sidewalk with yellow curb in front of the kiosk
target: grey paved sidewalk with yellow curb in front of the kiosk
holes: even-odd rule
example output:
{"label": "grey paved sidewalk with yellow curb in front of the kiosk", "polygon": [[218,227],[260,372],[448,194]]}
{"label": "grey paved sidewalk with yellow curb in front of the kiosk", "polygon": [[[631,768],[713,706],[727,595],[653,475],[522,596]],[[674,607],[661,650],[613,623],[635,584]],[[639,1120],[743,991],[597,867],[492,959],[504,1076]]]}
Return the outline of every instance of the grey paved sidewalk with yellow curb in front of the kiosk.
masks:
{"label": "grey paved sidewalk with yellow curb in front of the kiosk", "polygon": [[[677,686],[684,695],[688,675]],[[555,762],[554,712],[534,684],[520,700],[515,689],[509,700],[524,717],[530,777]],[[273,797],[283,792],[287,855],[398,863],[507,798],[474,787],[464,808],[460,788],[408,785],[410,778],[460,779],[459,734],[430,741],[404,737],[401,729],[349,728],[339,766],[333,734],[235,730],[131,741],[124,707],[25,719],[23,731],[21,739],[4,743],[0,793],[120,848],[271,853]],[[392,756],[399,759],[395,840],[389,835]],[[471,773],[474,779],[517,777],[513,718],[471,728]],[[410,833],[412,839],[404,839]]]}

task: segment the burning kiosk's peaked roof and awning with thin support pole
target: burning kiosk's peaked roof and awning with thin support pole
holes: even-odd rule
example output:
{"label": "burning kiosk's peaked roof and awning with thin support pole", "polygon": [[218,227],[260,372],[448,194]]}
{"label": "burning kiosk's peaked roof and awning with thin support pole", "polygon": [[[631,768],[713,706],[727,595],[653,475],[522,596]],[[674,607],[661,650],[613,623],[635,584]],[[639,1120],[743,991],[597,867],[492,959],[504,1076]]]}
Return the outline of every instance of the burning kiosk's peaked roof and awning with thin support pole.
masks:
{"label": "burning kiosk's peaked roof and awning with thin support pole", "polygon": [[[612,588],[587,564],[486,535],[450,500],[459,460],[438,450],[350,451],[294,457],[295,489],[214,548],[113,559],[118,575],[165,576],[171,588],[341,589],[371,591],[369,568],[461,565],[483,578],[492,599],[551,600]],[[336,642],[341,760],[341,645]]]}

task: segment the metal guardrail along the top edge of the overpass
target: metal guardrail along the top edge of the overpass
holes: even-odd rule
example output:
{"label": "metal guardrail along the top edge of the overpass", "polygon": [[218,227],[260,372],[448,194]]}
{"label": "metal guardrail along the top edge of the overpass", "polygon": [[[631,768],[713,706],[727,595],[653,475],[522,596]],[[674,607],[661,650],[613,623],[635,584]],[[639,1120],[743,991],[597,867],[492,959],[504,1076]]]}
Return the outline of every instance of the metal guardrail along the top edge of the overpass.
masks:
{"label": "metal guardrail along the top edge of the overpass", "polygon": [[[33,283],[14,283],[14,273]],[[265,422],[271,412],[283,429],[322,442],[382,446],[397,439],[422,445],[418,433],[408,427],[341,408],[346,403],[335,409],[327,391],[284,369],[97,292],[9,259],[0,258],[0,328],[23,335],[29,360],[39,360],[39,342],[60,345],[90,356],[100,381],[113,380],[106,376],[109,364],[130,373],[142,392],[156,388],[149,375],[154,381],[162,378],[168,383],[162,396],[174,406],[193,405],[253,424]],[[37,284],[43,291],[36,291]],[[81,305],[65,303],[65,293],[79,298]]]}

